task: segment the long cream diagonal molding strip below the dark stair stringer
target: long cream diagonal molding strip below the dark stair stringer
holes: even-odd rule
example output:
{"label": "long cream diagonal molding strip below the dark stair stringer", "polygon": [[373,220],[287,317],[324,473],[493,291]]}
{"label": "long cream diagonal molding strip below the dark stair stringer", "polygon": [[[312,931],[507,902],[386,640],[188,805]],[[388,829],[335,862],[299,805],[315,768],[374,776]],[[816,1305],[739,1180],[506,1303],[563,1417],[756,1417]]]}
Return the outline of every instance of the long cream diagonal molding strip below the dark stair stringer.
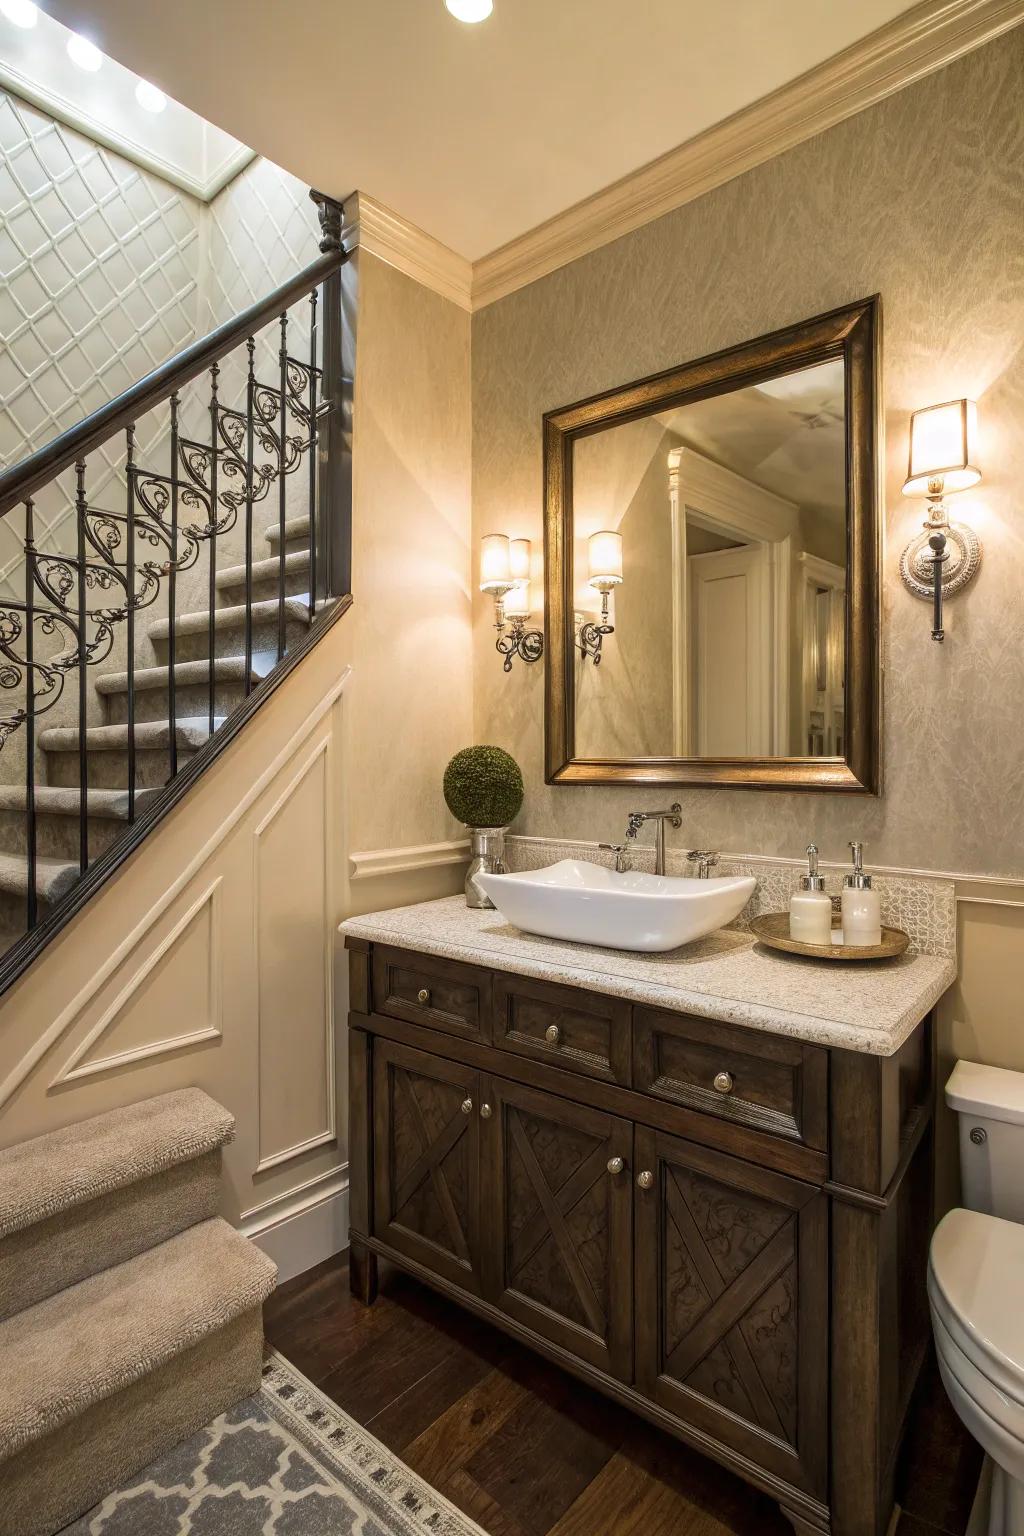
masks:
{"label": "long cream diagonal molding strip below the dark stair stringer", "polygon": [[[341,607],[341,605],[339,605]],[[316,631],[313,631],[316,633]],[[318,636],[319,637],[319,636]],[[293,653],[298,657],[298,651]],[[290,670],[290,668],[289,668]],[[284,674],[286,668],[278,668],[278,673]],[[278,673],[272,674],[272,680],[278,677]],[[215,851],[226,842],[226,839],[233,833],[246,813],[252,808],[255,800],[269,788],[273,779],[287,766],[287,763],[295,757],[298,748],[302,746],[306,740],[312,736],[321,720],[333,710],[341,696],[344,694],[348,679],[352,677],[352,665],[347,665],[332,688],[324,693],[318,700],[316,708],[310,711],[299,730],[286,742],[275,759],[264,768],[256,780],[249,786],[244,796],[233,806],[230,816],[218,826],[216,833],[207,839],[207,842],[197,851],[197,854],[189,860],[186,868],[178,874],[173,883],[163,892],[158,902],[146,912],[146,915],[135,925],[135,928],[121,940],[117,949],[107,957],[107,960],[100,966],[100,969],[89,977],[86,985],[75,994],[75,997],[60,1011],[57,1018],[49,1025],[48,1029],[41,1031],[35,1044],[21,1057],[17,1066],[8,1074],[8,1077],[0,1081],[0,1109],[17,1094],[28,1077],[32,1075],[40,1061],[48,1055],[48,1052],[61,1040],[63,1035],[75,1025],[81,1011],[91,1003],[100,988],[111,978],[117,968],[126,960],[132,952],[134,946],[140,943],[141,938],[150,931],[154,923],[163,917],[169,909],[172,902],[175,902],[186,886],[197,877],[204,863],[215,854]],[[236,733],[230,733],[229,725],[223,727],[216,733],[213,742],[224,736],[227,740],[233,739]],[[227,745],[224,740],[223,745]],[[195,759],[200,762],[200,759]],[[192,765],[189,765],[192,766]],[[175,790],[181,785],[181,780],[189,774],[189,768],[169,785]],[[189,780],[190,782],[190,780]],[[173,802],[172,802],[173,803]],[[167,805],[167,809],[170,805]],[[158,817],[152,817],[150,826],[155,826]],[[149,829],[149,826],[147,826]],[[120,863],[120,860],[118,860]],[[117,865],[114,865],[117,868]],[[112,871],[109,871],[112,872]]]}

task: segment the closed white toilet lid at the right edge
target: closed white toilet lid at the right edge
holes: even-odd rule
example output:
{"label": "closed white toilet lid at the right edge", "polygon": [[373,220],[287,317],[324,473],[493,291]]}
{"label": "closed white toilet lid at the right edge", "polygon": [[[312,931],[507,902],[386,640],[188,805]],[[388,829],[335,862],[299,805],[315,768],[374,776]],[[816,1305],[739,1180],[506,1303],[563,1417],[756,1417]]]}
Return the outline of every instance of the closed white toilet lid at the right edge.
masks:
{"label": "closed white toilet lid at the right edge", "polygon": [[932,1304],[960,1347],[1024,1399],[1024,1224],[950,1210],[932,1236],[929,1270]]}

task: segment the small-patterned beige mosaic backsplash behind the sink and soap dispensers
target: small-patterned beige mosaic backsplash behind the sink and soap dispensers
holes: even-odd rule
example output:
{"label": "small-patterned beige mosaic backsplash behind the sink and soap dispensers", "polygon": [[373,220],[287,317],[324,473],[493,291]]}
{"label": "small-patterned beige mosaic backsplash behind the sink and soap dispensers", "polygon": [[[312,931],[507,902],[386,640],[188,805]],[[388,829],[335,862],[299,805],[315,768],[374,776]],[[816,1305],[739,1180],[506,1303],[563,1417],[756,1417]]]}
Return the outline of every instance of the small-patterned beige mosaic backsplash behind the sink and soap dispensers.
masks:
{"label": "small-patterned beige mosaic backsplash behind the sink and soap dispensers", "polygon": [[[547,837],[507,837],[505,862],[511,871],[543,869],[559,859],[585,859],[590,863],[614,865],[614,854],[605,852],[597,843],[560,843]],[[631,856],[634,869],[654,872],[654,848],[639,845]],[[691,876],[692,865],[686,851],[669,848],[665,856],[666,872]],[[748,874],[757,880],[757,889],[740,915],[729,926],[749,929],[751,922],[763,912],[785,912],[789,897],[800,885],[806,866],[801,860],[792,863],[723,856],[715,874]],[[834,899],[843,889],[841,868],[823,866],[824,888]],[[881,920],[887,928],[901,928],[910,935],[910,954],[943,955],[956,958],[956,903],[952,880],[932,880],[917,876],[877,874],[874,885],[881,897]]]}

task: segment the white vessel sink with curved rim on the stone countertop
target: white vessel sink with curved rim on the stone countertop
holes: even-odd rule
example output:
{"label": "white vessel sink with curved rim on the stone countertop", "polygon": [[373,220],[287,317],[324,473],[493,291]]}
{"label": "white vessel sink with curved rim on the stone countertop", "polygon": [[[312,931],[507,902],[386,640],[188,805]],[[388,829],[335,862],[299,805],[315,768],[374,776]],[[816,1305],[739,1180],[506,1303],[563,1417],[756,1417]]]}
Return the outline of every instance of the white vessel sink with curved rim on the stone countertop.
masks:
{"label": "white vessel sink with curved rim on the stone countertop", "polygon": [[646,951],[676,949],[731,923],[757,883],[751,876],[617,874],[582,859],[476,879],[502,917],[528,934]]}

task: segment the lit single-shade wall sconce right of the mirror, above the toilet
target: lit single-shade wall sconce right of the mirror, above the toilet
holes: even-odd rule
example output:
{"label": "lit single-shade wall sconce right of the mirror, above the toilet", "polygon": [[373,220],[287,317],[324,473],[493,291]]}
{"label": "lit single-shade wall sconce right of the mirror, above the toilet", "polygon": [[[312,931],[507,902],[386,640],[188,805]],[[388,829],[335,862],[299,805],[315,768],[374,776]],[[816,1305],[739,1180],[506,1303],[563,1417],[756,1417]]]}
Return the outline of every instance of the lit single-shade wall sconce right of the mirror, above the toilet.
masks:
{"label": "lit single-shade wall sconce right of the mirror, above the toilet", "polygon": [[981,479],[975,464],[978,407],[950,399],[910,416],[910,464],[904,496],[927,496],[924,531],[900,556],[904,587],[932,604],[932,639],[941,641],[943,596],[961,591],[981,565],[981,541],[973,528],[950,522],[943,501]]}

